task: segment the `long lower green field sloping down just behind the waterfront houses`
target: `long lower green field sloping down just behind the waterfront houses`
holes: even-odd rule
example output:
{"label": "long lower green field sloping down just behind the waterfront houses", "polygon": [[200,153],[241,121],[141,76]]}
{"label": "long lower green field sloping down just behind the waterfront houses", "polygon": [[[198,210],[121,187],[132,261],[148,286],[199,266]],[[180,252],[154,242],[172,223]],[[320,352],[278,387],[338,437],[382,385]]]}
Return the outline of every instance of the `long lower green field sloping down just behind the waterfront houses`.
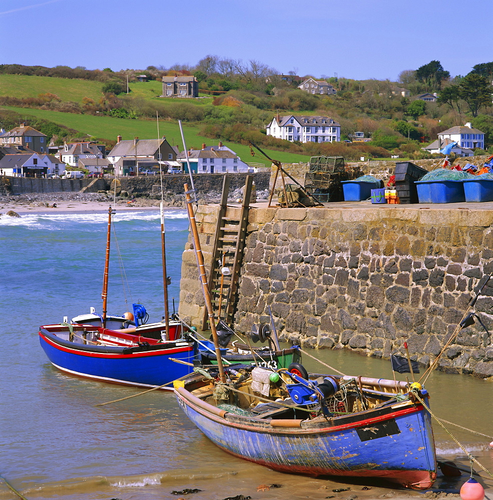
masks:
{"label": "long lower green field sloping down just behind the waterfront houses", "polygon": [[[32,78],[32,76],[29,76]],[[96,137],[114,139],[116,140],[117,135],[121,135],[123,139],[133,139],[134,137],[139,137],[141,139],[150,139],[157,137],[156,122],[151,120],[129,120],[124,118],[112,118],[110,116],[93,116],[90,114],[73,114],[73,113],[61,113],[59,111],[49,111],[45,109],[27,109],[24,107],[13,107],[13,106],[2,106],[4,109],[11,109],[17,111],[22,116],[37,116],[40,118],[45,118],[47,120],[54,121],[70,128],[75,128],[81,132],[85,132],[89,135],[94,135]],[[198,149],[202,147],[202,143],[205,142],[207,145],[212,145],[212,139],[208,137],[203,137],[198,135],[198,128],[188,125],[183,125],[183,133],[185,135],[185,140],[187,146],[194,147]],[[166,135],[168,142],[172,145],[178,145],[180,150],[183,149],[183,144],[180,136],[180,128],[177,123],[172,123],[170,121],[160,121],[159,122],[159,134],[160,136]],[[224,142],[224,144],[234,151],[241,157],[243,161],[251,162],[257,161],[259,163],[265,163],[270,165],[270,162],[265,158],[262,158],[260,153],[256,153],[255,156],[251,156],[249,146],[236,143]],[[296,163],[298,161],[307,161],[309,156],[301,154],[292,154],[282,151],[269,151],[265,152],[273,159],[282,161],[283,163]]]}

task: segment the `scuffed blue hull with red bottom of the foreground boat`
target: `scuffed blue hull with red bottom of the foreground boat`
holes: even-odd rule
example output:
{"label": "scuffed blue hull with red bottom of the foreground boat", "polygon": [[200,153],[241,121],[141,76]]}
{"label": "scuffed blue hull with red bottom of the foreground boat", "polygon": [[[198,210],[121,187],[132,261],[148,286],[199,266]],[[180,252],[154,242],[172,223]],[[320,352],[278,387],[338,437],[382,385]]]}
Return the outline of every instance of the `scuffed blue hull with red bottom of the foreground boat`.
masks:
{"label": "scuffed blue hull with red bottom of the foreground boat", "polygon": [[[186,397],[187,391],[175,392],[187,416],[212,442],[275,470],[375,477],[414,489],[429,488],[436,476],[431,424],[422,406],[407,405],[374,418],[363,412],[364,417],[345,426],[273,428],[269,421],[241,423],[238,415],[212,414],[194,403],[193,396]],[[389,429],[396,433],[381,435]]]}

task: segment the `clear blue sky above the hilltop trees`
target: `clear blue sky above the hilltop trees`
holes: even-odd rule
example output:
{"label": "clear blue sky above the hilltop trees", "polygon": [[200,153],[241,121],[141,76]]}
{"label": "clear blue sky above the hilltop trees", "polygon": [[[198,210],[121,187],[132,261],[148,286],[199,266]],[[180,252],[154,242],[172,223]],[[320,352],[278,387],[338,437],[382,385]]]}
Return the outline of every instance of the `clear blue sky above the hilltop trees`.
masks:
{"label": "clear blue sky above the hilltop trees", "polygon": [[438,59],[493,59],[491,0],[2,0],[0,63],[195,64],[207,54],[286,73],[396,80]]}

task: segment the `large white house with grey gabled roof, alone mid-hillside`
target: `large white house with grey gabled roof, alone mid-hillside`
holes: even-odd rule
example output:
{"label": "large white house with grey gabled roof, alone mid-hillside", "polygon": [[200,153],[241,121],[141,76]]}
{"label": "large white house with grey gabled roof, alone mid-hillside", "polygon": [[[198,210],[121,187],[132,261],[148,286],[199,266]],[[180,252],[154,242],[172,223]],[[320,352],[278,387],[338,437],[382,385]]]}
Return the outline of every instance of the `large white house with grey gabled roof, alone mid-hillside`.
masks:
{"label": "large white house with grey gabled roof, alone mid-hillside", "polygon": [[274,116],[267,125],[267,135],[291,142],[339,142],[341,125],[329,116]]}

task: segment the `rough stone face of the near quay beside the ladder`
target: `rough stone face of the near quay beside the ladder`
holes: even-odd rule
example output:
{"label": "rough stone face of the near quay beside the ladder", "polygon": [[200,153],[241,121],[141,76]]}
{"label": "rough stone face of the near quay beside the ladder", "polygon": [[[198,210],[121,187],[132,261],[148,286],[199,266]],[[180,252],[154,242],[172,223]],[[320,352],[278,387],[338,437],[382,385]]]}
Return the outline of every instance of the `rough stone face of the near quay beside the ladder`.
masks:
{"label": "rough stone face of the near quay beside the ladder", "polygon": [[[217,207],[197,212],[206,260]],[[349,348],[428,365],[463,317],[483,275],[493,272],[493,210],[449,207],[252,208],[236,328],[268,322],[283,340]],[[204,301],[191,245],[184,253],[180,313],[194,324]],[[493,375],[493,284],[438,366]]]}

